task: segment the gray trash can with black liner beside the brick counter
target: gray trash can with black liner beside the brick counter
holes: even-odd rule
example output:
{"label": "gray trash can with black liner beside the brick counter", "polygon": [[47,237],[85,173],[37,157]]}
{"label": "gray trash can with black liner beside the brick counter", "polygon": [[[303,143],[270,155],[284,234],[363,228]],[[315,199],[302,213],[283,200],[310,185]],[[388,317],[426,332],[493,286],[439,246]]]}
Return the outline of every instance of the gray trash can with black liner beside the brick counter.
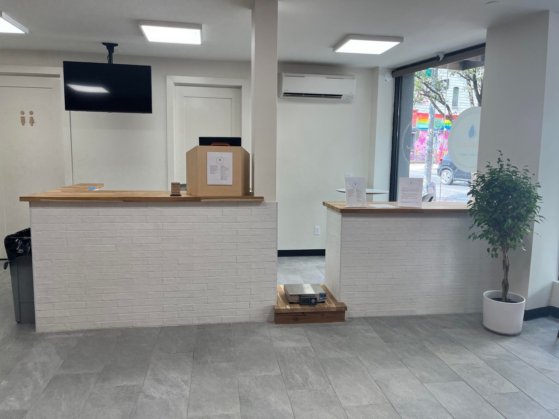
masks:
{"label": "gray trash can with black liner beside the brick counter", "polygon": [[12,278],[13,311],[16,322],[35,323],[35,299],[33,294],[33,264],[31,259],[31,229],[6,236],[4,247]]}

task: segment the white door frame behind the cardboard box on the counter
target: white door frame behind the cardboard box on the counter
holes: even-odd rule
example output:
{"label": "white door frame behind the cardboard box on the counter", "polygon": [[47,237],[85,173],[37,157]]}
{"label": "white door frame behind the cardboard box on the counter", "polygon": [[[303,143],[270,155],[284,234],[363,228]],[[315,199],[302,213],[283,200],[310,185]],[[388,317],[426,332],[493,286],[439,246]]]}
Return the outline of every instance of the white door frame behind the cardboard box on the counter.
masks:
{"label": "white door frame behind the cardboard box on the counter", "polygon": [[235,87],[241,89],[241,137],[247,139],[250,154],[250,80],[220,77],[190,77],[184,75],[167,76],[167,184],[176,180],[176,141],[175,141],[175,87],[206,86]]}

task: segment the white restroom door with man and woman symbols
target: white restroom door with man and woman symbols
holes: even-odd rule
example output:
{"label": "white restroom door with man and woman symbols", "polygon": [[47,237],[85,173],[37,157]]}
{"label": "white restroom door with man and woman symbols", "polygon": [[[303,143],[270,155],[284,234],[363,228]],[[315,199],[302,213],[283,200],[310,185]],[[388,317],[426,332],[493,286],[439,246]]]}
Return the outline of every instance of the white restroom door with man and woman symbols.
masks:
{"label": "white restroom door with man and woman symbols", "polygon": [[4,236],[30,226],[20,196],[64,186],[60,95],[60,78],[0,76],[0,258]]}

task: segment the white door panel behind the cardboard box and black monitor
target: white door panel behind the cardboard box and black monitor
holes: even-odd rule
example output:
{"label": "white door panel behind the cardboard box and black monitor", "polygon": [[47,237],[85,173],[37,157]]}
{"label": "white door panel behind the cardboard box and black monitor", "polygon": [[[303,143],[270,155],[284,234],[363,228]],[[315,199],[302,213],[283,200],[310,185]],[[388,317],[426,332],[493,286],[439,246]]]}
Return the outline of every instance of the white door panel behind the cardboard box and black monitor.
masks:
{"label": "white door panel behind the cardboard box and black monitor", "polygon": [[186,182],[185,155],[198,137],[241,136],[241,89],[175,86],[174,182]]}

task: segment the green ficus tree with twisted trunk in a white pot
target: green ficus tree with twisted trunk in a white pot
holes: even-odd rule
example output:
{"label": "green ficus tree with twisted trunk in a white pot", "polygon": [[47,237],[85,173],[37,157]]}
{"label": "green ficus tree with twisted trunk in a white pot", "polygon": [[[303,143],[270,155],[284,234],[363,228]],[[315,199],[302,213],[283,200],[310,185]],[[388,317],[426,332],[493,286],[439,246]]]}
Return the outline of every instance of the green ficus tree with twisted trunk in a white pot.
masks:
{"label": "green ficus tree with twisted trunk in a white pot", "polygon": [[501,301],[508,302],[509,292],[509,250],[521,247],[524,236],[533,232],[534,222],[544,218],[539,215],[542,197],[538,194],[539,182],[533,183],[534,174],[527,166],[518,169],[503,160],[499,151],[497,164],[489,161],[485,172],[477,172],[473,177],[468,201],[468,215],[472,218],[469,238],[486,240],[487,253],[491,258],[503,255],[503,295]]}

